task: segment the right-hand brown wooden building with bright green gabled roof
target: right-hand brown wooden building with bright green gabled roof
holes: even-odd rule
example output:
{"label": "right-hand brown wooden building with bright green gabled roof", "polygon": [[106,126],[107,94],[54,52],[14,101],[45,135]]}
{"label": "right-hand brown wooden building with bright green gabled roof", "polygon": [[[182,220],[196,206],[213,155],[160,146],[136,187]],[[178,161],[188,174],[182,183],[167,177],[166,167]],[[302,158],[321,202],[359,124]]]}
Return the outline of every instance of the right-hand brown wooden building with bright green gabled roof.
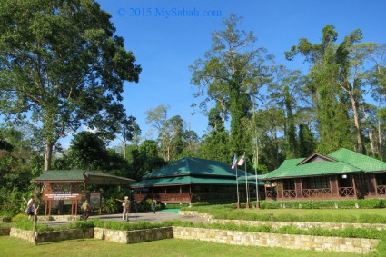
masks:
{"label": "right-hand brown wooden building with bright green gabled roof", "polygon": [[386,197],[386,163],[341,148],[285,160],[265,174],[266,200],[332,200]]}

